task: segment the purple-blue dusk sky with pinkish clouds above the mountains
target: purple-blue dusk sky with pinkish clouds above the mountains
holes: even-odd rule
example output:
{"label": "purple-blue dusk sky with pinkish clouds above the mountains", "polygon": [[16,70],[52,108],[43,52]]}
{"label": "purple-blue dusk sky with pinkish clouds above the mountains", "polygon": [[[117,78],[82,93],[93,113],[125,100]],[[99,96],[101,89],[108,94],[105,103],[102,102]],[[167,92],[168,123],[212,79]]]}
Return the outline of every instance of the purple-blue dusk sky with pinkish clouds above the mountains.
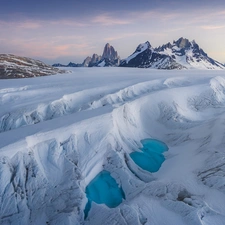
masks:
{"label": "purple-blue dusk sky with pinkish clouds above the mountains", "polygon": [[123,59],[180,37],[225,63],[225,1],[0,0],[0,53],[48,64],[81,63],[106,43]]}

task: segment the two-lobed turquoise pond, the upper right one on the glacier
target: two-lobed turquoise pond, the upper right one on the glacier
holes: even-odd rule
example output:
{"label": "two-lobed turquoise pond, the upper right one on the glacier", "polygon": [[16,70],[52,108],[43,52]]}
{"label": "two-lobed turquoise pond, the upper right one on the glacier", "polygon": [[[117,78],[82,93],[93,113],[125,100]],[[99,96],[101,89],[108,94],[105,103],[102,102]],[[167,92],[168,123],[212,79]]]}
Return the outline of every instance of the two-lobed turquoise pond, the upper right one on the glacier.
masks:
{"label": "two-lobed turquoise pond, the upper right one on the glacier", "polygon": [[132,152],[130,157],[143,170],[157,172],[165,161],[163,153],[168,151],[167,145],[156,139],[144,139],[141,143],[142,152]]}

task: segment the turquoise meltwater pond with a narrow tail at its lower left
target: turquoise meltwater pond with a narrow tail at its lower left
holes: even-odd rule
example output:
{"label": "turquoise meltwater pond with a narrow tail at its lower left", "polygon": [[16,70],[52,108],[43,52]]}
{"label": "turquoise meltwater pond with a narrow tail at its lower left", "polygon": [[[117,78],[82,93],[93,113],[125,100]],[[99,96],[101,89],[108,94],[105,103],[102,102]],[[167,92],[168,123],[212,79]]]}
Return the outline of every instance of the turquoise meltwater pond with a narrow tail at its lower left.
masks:
{"label": "turquoise meltwater pond with a narrow tail at its lower left", "polygon": [[116,180],[108,171],[101,171],[86,187],[88,203],[85,207],[85,218],[91,209],[91,202],[105,204],[109,208],[115,208],[125,199],[122,188],[118,186]]}

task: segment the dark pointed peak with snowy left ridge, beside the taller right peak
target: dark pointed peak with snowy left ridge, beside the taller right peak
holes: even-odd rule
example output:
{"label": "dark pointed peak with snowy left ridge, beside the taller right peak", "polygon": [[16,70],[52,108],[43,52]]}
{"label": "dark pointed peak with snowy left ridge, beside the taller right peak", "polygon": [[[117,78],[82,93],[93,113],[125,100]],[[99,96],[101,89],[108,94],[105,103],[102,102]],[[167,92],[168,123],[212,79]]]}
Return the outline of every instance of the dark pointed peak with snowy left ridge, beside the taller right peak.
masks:
{"label": "dark pointed peak with snowy left ridge, beside the taller right peak", "polygon": [[171,56],[155,51],[148,41],[138,45],[132,55],[121,61],[120,66],[156,69],[183,68]]}

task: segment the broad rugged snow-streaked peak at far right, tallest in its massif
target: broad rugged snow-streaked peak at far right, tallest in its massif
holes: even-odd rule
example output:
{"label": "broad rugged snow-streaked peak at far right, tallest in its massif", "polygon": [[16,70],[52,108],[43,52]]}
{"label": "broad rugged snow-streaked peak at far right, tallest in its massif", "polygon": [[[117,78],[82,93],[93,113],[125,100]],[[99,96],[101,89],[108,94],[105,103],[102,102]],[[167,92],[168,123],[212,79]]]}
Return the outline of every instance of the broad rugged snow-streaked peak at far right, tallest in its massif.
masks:
{"label": "broad rugged snow-streaked peak at far right, tallest in its massif", "polygon": [[189,41],[183,37],[172,44],[169,42],[155,48],[155,51],[172,57],[186,68],[225,69],[224,65],[210,58],[194,40]]}

